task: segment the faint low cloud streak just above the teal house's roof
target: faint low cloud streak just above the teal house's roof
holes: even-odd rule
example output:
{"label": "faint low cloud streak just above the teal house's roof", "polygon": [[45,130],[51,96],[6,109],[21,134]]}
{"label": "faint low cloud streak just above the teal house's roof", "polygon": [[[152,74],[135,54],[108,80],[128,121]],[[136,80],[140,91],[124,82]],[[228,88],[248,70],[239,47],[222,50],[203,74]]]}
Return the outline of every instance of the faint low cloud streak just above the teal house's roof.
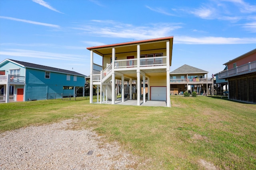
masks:
{"label": "faint low cloud streak just above the teal house's roof", "polygon": [[84,55],[74,55],[74,54],[65,54],[65,53],[50,53],[50,52],[34,51],[34,50],[27,50],[27,49],[4,49],[4,51],[0,51],[0,55],[43,58],[43,59],[56,59],[56,60],[68,60],[68,61],[84,60]]}

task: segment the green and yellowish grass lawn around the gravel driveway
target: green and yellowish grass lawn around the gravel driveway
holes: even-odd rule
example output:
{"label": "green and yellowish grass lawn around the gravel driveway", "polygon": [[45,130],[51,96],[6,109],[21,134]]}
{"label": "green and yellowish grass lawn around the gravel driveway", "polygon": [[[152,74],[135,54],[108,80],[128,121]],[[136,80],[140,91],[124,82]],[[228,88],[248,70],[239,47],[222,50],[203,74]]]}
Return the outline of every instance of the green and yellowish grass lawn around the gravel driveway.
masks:
{"label": "green and yellowish grass lawn around the gravel driveway", "polygon": [[77,118],[74,130],[93,128],[107,142],[117,141],[145,163],[140,169],[256,169],[256,105],[205,96],[172,96],[171,103],[2,103],[0,132]]}

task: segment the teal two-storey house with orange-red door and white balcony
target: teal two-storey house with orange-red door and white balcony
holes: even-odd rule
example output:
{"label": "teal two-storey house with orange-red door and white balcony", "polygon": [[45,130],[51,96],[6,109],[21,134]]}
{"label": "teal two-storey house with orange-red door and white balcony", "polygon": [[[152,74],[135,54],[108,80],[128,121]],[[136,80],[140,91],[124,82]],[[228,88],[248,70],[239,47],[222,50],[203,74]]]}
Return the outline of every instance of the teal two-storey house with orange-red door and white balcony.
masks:
{"label": "teal two-storey house with orange-red door and white balcony", "polygon": [[5,59],[0,63],[0,101],[30,101],[74,96],[84,91],[85,75],[44,65]]}

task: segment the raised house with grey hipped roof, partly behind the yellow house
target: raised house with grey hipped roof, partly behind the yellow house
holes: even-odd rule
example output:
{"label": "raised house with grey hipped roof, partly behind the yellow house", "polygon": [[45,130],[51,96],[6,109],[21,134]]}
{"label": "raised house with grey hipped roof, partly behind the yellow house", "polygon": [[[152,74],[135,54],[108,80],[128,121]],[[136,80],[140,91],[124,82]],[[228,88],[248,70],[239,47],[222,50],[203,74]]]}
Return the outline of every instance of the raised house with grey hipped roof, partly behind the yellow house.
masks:
{"label": "raised house with grey hipped roof, partly behind the yellow house", "polygon": [[187,91],[195,91],[198,95],[213,94],[213,77],[208,78],[208,71],[182,65],[170,72],[170,91],[171,94],[178,95]]}

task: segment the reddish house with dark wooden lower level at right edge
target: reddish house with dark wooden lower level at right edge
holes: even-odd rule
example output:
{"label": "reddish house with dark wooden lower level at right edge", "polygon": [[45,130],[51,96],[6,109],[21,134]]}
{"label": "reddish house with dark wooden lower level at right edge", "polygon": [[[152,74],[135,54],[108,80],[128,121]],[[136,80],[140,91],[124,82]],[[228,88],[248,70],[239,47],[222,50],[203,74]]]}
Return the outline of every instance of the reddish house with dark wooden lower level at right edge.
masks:
{"label": "reddish house with dark wooden lower level at right edge", "polygon": [[218,79],[228,81],[231,100],[256,103],[256,49],[223,65],[228,69],[218,73]]}

